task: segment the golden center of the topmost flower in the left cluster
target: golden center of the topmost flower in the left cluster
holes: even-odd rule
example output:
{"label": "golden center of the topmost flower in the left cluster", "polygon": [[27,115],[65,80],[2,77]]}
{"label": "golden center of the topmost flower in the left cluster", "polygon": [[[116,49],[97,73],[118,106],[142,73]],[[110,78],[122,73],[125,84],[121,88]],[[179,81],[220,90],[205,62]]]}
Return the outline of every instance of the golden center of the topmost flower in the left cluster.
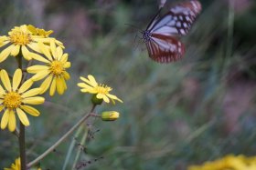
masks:
{"label": "golden center of the topmost flower in the left cluster", "polygon": [[27,45],[31,42],[31,36],[22,31],[13,31],[10,35],[10,41],[15,45]]}

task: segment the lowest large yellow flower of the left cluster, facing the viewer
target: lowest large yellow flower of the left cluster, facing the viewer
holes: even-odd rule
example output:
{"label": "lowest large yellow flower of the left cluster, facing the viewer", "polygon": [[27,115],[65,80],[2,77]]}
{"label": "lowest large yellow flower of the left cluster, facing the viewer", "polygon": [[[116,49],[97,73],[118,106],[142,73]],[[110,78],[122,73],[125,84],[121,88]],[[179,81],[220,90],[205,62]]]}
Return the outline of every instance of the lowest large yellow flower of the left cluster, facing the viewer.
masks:
{"label": "lowest large yellow flower of the left cluster, facing the viewer", "polygon": [[5,87],[4,89],[3,86],[0,85],[0,112],[4,110],[4,115],[1,120],[1,129],[5,129],[8,125],[9,131],[13,132],[16,129],[15,114],[17,114],[21,123],[27,126],[29,125],[29,121],[26,113],[34,116],[40,115],[37,109],[29,105],[43,104],[45,99],[41,96],[35,96],[41,92],[40,88],[28,90],[31,85],[33,85],[31,79],[21,84],[21,69],[16,69],[12,83],[4,69],[1,70],[0,76]]}

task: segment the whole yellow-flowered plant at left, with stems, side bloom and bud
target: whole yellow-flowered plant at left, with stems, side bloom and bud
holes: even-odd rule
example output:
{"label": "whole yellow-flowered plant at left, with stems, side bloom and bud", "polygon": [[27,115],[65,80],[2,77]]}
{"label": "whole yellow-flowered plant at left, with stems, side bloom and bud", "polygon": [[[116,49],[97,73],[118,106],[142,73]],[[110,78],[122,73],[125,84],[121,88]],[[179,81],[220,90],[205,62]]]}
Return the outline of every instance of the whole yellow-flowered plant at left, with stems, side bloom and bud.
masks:
{"label": "whole yellow-flowered plant at left, with stems, side bloom and bud", "polygon": [[[40,96],[49,91],[49,95],[63,95],[68,89],[66,81],[70,75],[68,69],[71,66],[69,55],[63,52],[64,45],[59,40],[50,37],[52,30],[46,31],[33,25],[16,26],[8,35],[0,36],[0,114],[2,116],[0,127],[8,127],[19,138],[20,148],[25,147],[24,126],[30,125],[27,115],[38,116],[40,112],[33,105],[42,105],[45,98]],[[4,68],[3,63],[9,56],[16,57],[16,69],[14,73],[8,73],[13,67]],[[32,62],[32,60],[34,62]],[[104,101],[123,103],[116,95],[111,95],[112,88],[108,85],[98,84],[92,75],[88,78],[80,77],[83,81],[78,85],[82,93],[92,95],[92,110],[82,121],[89,116],[101,117],[102,121],[114,121],[119,118],[116,111],[105,111],[101,115],[93,114],[96,105]],[[42,81],[39,87],[32,87],[35,82]],[[32,105],[32,106],[31,106]],[[16,128],[18,117],[21,130]],[[70,130],[74,131],[82,122],[78,122]],[[70,132],[70,131],[69,131]],[[71,134],[71,133],[69,133]],[[66,135],[65,137],[67,137]],[[63,136],[57,144],[65,139]],[[56,147],[57,145],[55,145]],[[49,153],[49,152],[48,152]],[[10,168],[5,170],[21,170],[27,165],[24,155],[25,149],[20,149],[21,159],[17,158]],[[37,160],[38,161],[38,160]],[[36,161],[36,162],[37,162]],[[35,168],[34,168],[35,169]],[[36,168],[41,170],[41,168]]]}

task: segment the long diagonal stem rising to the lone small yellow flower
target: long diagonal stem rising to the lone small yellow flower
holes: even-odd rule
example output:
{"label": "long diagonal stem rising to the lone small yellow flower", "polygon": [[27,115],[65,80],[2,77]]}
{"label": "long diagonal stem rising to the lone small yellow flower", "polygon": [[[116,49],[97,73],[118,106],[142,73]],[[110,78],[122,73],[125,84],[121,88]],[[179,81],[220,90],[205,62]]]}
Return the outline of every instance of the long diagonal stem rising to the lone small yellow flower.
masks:
{"label": "long diagonal stem rising to the lone small yellow flower", "polygon": [[70,134],[72,134],[72,132],[74,132],[74,130],[76,130],[76,128],[78,128],[90,116],[91,116],[91,113],[84,115],[76,125],[73,125],[69,129],[69,131],[59,139],[59,141],[57,141],[54,145],[50,146],[48,150],[46,150],[42,155],[39,155],[34,161],[31,161],[30,163],[28,163],[27,167],[29,168],[32,165],[36,165],[41,159],[43,159],[46,155],[51,153],[59,144],[61,144]]}

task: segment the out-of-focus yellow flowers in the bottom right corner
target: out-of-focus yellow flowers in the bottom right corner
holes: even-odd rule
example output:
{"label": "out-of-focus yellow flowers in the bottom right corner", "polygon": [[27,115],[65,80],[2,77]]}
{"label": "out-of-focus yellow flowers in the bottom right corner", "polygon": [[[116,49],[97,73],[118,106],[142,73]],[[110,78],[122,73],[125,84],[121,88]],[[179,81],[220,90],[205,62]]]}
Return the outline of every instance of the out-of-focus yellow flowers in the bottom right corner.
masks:
{"label": "out-of-focus yellow flowers in the bottom right corner", "polygon": [[206,162],[203,165],[191,165],[187,170],[255,170],[256,156],[226,155],[225,157]]}

